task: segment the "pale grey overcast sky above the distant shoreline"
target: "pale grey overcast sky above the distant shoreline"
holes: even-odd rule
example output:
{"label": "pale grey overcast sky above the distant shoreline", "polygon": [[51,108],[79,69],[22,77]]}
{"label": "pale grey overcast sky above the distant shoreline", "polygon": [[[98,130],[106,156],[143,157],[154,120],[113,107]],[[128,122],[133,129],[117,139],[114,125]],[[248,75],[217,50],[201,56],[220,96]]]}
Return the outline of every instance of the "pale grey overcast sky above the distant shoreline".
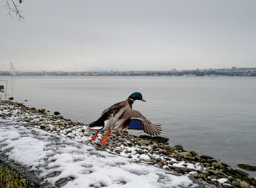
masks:
{"label": "pale grey overcast sky above the distant shoreline", "polygon": [[19,71],[256,67],[255,0],[41,0],[20,9],[22,22],[0,7],[0,70],[11,61]]}

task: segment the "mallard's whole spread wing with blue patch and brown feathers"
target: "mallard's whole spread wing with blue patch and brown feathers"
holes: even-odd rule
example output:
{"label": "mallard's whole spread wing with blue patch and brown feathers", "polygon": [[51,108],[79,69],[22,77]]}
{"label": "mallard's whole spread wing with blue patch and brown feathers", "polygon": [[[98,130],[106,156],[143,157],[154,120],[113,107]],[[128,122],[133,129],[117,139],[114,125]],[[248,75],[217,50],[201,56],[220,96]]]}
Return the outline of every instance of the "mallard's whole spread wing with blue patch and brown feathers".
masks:
{"label": "mallard's whole spread wing with blue patch and brown feathers", "polygon": [[115,128],[119,130],[143,130],[151,136],[157,136],[161,133],[160,125],[151,123],[140,111],[127,110],[120,120],[116,122]]}

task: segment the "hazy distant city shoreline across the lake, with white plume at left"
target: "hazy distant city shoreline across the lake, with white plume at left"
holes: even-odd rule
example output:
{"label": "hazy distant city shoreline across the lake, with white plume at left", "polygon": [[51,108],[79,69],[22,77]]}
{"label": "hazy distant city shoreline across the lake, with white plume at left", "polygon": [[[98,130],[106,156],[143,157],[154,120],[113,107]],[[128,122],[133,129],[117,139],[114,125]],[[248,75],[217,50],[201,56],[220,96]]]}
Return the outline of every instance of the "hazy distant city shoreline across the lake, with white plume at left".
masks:
{"label": "hazy distant city shoreline across the lake, with white plume at left", "polygon": [[15,71],[10,63],[10,71],[1,71],[0,76],[188,76],[188,77],[256,77],[256,67],[254,68],[208,68],[196,70],[177,70],[173,68],[169,71]]}

